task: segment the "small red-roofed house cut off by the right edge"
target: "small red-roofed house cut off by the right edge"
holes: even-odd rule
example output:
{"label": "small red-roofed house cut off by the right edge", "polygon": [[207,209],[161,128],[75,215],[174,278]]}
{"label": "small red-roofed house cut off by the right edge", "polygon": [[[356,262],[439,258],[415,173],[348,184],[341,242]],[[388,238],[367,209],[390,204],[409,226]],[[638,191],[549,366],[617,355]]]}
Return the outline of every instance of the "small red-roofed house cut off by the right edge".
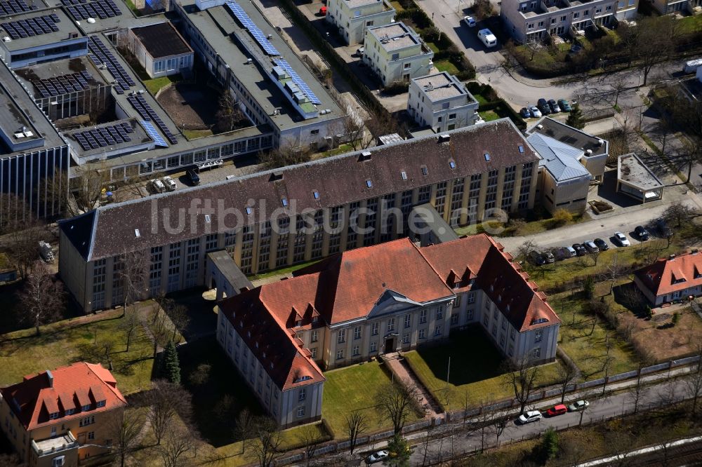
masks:
{"label": "small red-roofed house cut off by the right edge", "polygon": [[656,306],[686,297],[702,295],[702,255],[692,250],[688,255],[658,259],[638,269],[634,283]]}

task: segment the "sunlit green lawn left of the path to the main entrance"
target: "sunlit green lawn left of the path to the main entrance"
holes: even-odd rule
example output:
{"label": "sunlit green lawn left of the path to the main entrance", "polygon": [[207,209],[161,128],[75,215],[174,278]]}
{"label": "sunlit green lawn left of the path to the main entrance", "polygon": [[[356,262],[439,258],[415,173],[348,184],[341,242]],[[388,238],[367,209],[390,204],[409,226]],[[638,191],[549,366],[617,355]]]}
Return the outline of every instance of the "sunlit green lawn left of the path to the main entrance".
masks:
{"label": "sunlit green lawn left of the path to the main entrance", "polygon": [[[322,398],[322,417],[326,419],[337,439],[345,436],[345,417],[354,410],[360,410],[368,417],[369,431],[391,427],[384,420],[380,409],[376,407],[376,390],[389,383],[390,376],[380,366],[372,362],[351,367],[339,368],[325,372],[324,396]],[[408,423],[416,421],[416,414],[411,414]]]}

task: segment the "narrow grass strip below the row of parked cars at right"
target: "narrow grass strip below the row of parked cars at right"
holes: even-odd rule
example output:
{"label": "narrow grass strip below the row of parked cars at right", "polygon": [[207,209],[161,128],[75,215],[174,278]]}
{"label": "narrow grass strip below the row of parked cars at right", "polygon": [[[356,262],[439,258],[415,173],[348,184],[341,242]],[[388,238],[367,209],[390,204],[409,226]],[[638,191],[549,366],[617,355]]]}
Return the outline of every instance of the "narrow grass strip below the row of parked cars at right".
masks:
{"label": "narrow grass strip below the row of parked cars at right", "polygon": [[[605,240],[609,242],[609,239]],[[567,243],[567,241],[564,241],[564,243]],[[675,243],[670,243],[670,247],[666,247],[666,244],[667,241],[664,240],[650,240],[626,248],[610,248],[600,253],[600,256],[597,257],[597,264],[595,264],[595,259],[592,255],[586,255],[565,259],[554,264],[546,264],[541,267],[524,262],[524,269],[529,272],[541,290],[548,292],[548,290],[559,283],[566,283],[571,280],[584,280],[586,276],[607,273],[615,257],[617,264],[621,266],[628,264],[644,266],[644,264],[649,264],[658,257],[662,258],[682,249],[682,246]]]}

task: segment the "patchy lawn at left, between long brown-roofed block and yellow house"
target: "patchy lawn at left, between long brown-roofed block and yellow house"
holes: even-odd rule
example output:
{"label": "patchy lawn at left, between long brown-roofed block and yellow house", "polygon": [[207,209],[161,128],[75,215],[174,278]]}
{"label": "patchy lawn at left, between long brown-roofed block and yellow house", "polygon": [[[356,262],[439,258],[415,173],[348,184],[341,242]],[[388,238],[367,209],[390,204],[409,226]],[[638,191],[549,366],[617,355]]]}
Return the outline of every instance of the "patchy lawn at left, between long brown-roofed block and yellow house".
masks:
{"label": "patchy lawn at left, between long brown-roofed block and yellow house", "polygon": [[[93,319],[89,323],[81,320]],[[142,327],[138,327],[126,351],[126,338],[121,330],[121,310],[100,315],[63,320],[34,330],[22,330],[0,336],[0,386],[22,381],[32,374],[79,361],[102,363],[108,367],[104,346],[112,346],[112,374],[122,393],[135,393],[151,386],[153,367],[152,343]]]}

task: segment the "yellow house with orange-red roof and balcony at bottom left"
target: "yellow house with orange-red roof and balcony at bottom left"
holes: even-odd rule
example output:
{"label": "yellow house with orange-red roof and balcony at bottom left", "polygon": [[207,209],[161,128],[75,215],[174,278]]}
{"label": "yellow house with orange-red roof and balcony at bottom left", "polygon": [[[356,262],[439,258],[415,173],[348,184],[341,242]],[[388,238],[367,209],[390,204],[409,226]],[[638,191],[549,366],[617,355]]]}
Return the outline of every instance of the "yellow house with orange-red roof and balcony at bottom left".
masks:
{"label": "yellow house with orange-red roof and balcony at bottom left", "polygon": [[77,466],[110,452],[126,407],[109,370],[74,363],[0,388],[1,429],[29,466]]}

